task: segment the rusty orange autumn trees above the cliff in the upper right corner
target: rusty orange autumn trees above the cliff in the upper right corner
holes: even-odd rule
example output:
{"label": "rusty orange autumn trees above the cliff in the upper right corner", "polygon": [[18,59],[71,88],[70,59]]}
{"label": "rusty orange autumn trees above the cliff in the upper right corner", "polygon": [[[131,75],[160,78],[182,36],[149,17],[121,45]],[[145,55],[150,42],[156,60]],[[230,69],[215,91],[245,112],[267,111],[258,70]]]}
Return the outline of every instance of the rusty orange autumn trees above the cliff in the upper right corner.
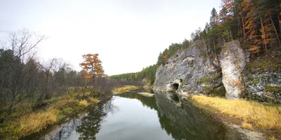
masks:
{"label": "rusty orange autumn trees above the cliff in the upper right corner", "polygon": [[278,22],[275,22],[280,18],[279,4],[278,1],[263,0],[243,0],[236,3],[237,8],[242,9],[239,18],[242,20],[244,43],[251,45],[249,48],[251,52],[259,52],[262,48],[268,53],[270,43],[281,45],[280,32],[277,30],[280,23],[278,26]]}

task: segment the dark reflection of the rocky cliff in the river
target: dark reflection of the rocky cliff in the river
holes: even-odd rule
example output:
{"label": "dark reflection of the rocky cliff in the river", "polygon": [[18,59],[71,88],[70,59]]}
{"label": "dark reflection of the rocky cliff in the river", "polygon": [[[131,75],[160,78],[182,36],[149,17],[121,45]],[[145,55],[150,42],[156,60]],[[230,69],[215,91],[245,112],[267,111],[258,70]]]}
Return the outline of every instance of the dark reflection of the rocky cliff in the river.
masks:
{"label": "dark reflection of the rocky cliff in the river", "polygon": [[237,139],[240,135],[172,93],[155,93],[155,97],[161,127],[174,139]]}

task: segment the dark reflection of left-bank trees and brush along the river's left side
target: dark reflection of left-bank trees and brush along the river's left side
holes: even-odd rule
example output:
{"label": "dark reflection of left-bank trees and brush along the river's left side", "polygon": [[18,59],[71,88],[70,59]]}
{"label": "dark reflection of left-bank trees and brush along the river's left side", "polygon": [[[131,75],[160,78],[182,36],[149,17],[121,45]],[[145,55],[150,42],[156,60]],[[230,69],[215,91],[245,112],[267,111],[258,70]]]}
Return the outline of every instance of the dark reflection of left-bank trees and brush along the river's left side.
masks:
{"label": "dark reflection of left-bank trees and brush along the river's left side", "polygon": [[73,118],[61,125],[53,125],[44,132],[32,134],[22,139],[96,139],[96,134],[100,131],[100,125],[107,113],[118,111],[117,106],[112,101],[99,104],[98,106],[89,106],[86,113]]}

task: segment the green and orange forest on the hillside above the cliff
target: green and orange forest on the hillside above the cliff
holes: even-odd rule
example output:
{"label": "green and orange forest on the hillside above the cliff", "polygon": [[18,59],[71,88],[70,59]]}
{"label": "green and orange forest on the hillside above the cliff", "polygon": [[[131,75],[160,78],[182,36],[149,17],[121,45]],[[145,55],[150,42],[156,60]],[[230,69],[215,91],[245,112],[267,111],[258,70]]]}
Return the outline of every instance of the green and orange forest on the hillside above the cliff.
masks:
{"label": "green and orange forest on the hillside above the cliff", "polygon": [[211,48],[208,54],[218,53],[224,43],[239,40],[251,57],[273,55],[281,50],[281,2],[279,0],[222,0],[221,8],[211,9],[209,22],[204,29],[198,28],[191,39],[182,43],[172,43],[160,52],[157,63],[137,73],[123,73],[110,78],[122,80],[142,80],[154,83],[156,69],[178,50],[188,48],[197,40],[206,40]]}

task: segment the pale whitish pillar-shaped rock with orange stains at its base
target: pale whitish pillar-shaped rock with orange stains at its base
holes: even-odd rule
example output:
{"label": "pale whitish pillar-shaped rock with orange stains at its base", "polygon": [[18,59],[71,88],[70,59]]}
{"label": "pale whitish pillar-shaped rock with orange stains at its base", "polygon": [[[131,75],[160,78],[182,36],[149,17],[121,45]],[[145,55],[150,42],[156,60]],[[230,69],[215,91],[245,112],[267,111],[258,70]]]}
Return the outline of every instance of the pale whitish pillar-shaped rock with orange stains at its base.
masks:
{"label": "pale whitish pillar-shaped rock with orange stains at its base", "polygon": [[244,90],[242,71],[246,65],[245,53],[240,42],[226,43],[221,50],[221,71],[227,99],[238,99]]}

